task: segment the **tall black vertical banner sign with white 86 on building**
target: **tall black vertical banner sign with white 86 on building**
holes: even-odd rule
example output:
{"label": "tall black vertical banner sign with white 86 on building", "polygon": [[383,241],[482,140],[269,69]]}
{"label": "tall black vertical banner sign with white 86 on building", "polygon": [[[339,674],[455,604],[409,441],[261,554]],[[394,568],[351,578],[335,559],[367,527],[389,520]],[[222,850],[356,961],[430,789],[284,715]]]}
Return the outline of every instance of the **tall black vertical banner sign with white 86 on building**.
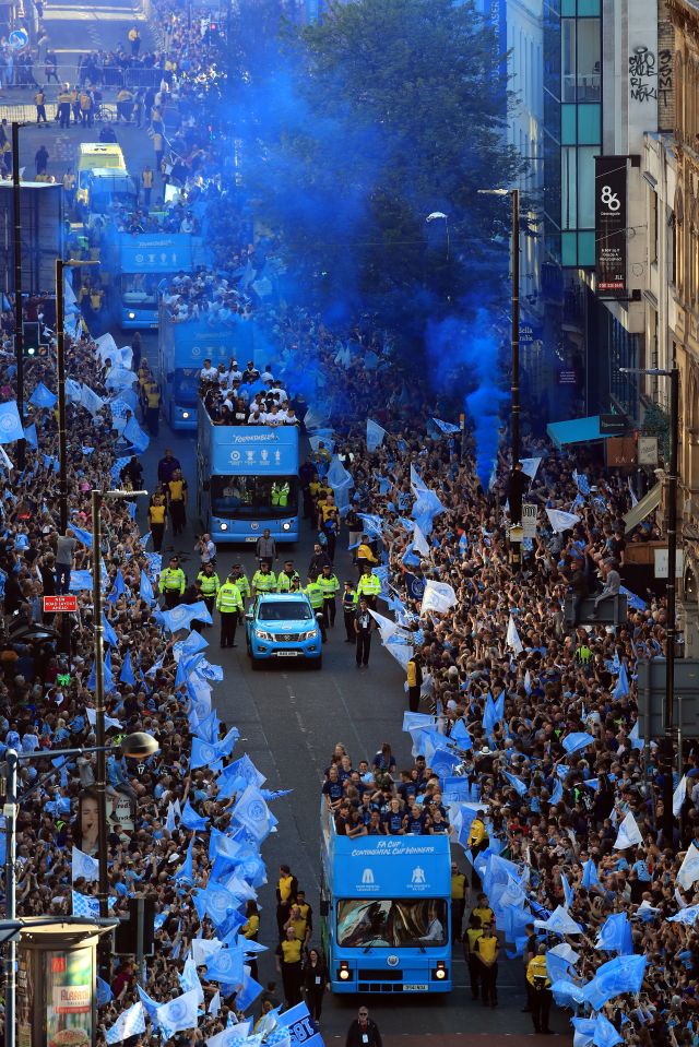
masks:
{"label": "tall black vertical banner sign with white 86 on building", "polygon": [[602,297],[626,297],[626,156],[596,156],[595,272]]}

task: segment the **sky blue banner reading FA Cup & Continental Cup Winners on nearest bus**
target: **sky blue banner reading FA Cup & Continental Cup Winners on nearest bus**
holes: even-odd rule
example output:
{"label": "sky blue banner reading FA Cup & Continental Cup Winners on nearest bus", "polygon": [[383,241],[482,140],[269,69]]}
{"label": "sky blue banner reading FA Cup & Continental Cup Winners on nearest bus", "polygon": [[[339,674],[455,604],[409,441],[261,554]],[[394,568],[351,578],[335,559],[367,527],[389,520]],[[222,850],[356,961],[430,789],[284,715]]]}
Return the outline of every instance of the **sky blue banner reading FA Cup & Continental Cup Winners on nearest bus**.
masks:
{"label": "sky blue banner reading FA Cup & Continental Cup Winners on nearest bus", "polygon": [[438,897],[451,891],[449,837],[335,836],[335,897]]}

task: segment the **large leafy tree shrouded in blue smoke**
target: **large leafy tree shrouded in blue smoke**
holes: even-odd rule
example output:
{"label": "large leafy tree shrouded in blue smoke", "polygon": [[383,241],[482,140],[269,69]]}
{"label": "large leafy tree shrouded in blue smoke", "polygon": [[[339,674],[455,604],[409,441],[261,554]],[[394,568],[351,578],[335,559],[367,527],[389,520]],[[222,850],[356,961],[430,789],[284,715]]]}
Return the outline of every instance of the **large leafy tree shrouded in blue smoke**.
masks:
{"label": "large leafy tree shrouded in blue smoke", "polygon": [[[478,195],[519,169],[505,144],[505,56],[472,0],[357,0],[287,26],[254,95],[263,213],[330,295],[400,314],[505,271],[507,203]],[[434,211],[449,223],[426,223]],[[419,311],[419,310],[418,310]],[[395,318],[395,316],[393,317]]]}

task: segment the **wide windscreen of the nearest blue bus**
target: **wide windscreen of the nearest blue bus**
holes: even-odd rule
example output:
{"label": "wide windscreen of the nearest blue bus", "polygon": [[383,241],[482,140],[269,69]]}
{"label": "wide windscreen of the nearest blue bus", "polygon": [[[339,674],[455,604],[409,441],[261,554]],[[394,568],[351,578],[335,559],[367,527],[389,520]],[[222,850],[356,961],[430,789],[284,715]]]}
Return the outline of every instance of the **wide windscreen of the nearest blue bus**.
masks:
{"label": "wide windscreen of the nearest blue bus", "polygon": [[424,948],[447,943],[443,899],[348,899],[337,902],[337,944],[344,948]]}

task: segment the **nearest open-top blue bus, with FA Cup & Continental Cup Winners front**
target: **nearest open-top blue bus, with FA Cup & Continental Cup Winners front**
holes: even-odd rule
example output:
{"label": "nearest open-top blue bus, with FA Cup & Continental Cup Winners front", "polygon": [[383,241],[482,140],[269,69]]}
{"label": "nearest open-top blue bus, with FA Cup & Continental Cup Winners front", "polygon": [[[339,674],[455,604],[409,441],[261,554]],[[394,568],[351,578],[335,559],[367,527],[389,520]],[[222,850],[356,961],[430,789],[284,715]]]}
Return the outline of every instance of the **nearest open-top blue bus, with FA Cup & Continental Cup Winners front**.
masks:
{"label": "nearest open-top blue bus, with FA Cup & Continental Cup Winners front", "polygon": [[333,992],[449,992],[449,836],[339,836],[321,811],[321,942]]}

